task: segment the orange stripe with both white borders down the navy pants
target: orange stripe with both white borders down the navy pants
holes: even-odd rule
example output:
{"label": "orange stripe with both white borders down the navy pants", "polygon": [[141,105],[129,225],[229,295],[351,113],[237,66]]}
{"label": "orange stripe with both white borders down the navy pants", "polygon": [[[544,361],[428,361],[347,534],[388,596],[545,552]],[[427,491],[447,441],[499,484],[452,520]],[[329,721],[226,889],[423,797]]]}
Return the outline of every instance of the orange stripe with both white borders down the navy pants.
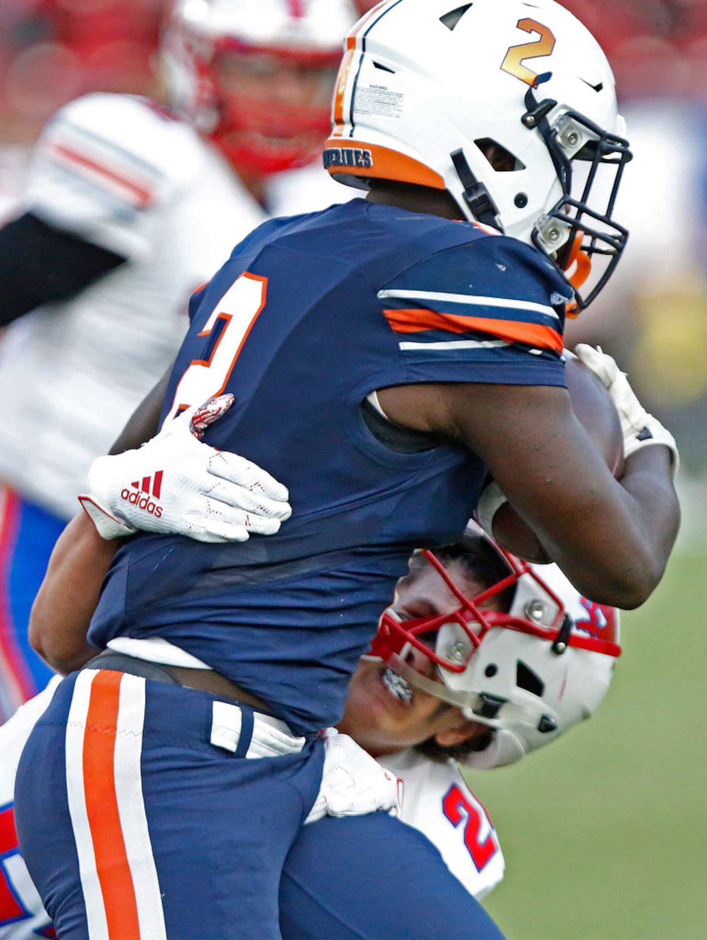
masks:
{"label": "orange stripe with both white borders down the navy pants", "polygon": [[166,940],[142,791],[144,721],[144,679],[79,673],[66,768],[90,940]]}

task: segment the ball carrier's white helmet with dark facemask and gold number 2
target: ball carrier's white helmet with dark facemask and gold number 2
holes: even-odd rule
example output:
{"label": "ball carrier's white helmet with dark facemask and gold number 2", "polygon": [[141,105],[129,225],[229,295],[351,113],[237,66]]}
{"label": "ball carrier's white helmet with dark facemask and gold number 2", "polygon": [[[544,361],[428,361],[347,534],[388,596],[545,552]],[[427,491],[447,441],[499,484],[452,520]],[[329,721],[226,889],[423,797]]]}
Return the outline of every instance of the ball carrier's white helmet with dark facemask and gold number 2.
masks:
{"label": "ball carrier's white helmet with dark facemask and gold number 2", "polygon": [[602,49],[554,0],[387,0],[346,40],[324,165],[448,190],[551,258],[582,308],[628,235],[611,218],[623,129]]}

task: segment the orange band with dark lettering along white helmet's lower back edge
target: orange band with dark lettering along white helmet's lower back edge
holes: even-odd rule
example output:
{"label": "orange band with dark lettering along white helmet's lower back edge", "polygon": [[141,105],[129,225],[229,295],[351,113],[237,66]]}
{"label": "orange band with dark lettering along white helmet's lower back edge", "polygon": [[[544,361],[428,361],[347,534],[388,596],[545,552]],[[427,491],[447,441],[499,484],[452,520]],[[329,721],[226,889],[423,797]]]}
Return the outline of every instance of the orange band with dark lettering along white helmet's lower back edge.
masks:
{"label": "orange band with dark lettering along white helmet's lower back edge", "polygon": [[333,177],[360,176],[413,182],[432,189],[446,189],[444,177],[414,157],[397,150],[366,144],[348,137],[330,137],[324,147],[324,166]]}

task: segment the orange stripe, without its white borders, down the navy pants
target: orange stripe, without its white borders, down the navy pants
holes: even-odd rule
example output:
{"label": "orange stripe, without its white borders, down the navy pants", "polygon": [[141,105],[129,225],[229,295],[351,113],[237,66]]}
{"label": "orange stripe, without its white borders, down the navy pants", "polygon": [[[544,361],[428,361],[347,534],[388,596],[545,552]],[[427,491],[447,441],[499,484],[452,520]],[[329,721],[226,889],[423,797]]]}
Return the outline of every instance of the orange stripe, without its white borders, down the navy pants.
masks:
{"label": "orange stripe, without its white borders, down the navy pants", "polygon": [[114,776],[121,677],[122,673],[102,669],[91,683],[84,737],[84,787],[108,936],[111,940],[139,940],[137,901]]}

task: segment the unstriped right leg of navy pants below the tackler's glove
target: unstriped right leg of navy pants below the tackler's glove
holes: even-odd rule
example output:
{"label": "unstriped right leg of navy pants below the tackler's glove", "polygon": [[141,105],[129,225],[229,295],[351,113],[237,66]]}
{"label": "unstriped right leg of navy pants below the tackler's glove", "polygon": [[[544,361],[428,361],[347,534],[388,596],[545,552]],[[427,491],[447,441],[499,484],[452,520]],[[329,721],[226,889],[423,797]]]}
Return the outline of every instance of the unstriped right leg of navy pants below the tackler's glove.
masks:
{"label": "unstriped right leg of navy pants below the tackler's glove", "polygon": [[285,940],[503,940],[416,829],[386,813],[303,827],[280,882]]}

